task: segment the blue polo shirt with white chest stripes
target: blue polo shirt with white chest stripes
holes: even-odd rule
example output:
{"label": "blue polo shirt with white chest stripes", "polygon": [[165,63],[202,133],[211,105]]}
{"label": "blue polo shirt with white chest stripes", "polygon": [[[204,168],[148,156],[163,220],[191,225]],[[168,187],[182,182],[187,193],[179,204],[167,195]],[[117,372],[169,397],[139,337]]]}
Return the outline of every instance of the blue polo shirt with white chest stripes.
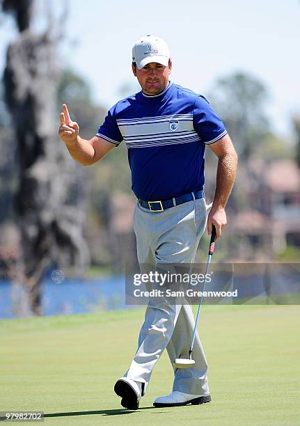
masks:
{"label": "blue polo shirt with white chest stripes", "polygon": [[132,190],[149,201],[203,189],[205,145],[226,133],[205,97],[170,83],[159,95],[141,91],[118,102],[97,136],[125,141]]}

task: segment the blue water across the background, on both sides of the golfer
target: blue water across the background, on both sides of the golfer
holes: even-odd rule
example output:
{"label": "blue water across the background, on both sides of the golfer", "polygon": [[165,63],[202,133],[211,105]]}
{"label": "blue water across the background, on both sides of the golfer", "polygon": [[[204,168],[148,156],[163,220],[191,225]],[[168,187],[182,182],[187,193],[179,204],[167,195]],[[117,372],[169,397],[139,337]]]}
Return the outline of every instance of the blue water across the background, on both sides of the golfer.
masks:
{"label": "blue water across the background, on both sides of the golfer", "polygon": [[[264,265],[235,264],[214,265],[214,280],[210,290],[237,289],[238,297],[232,303],[256,303],[252,298],[260,297],[260,303],[300,303],[300,265],[276,264],[269,265],[269,273],[265,274]],[[227,270],[227,269],[228,270]],[[261,269],[261,271],[260,271]],[[134,301],[125,303],[125,276],[111,276],[94,280],[65,279],[60,270],[54,270],[52,278],[42,283],[42,315],[88,313],[95,310],[111,310],[134,308]],[[129,276],[130,277],[130,276]],[[133,283],[129,278],[129,283]],[[128,284],[128,283],[127,283]],[[232,287],[231,287],[232,286]],[[131,289],[131,290],[130,290]],[[127,288],[131,294],[132,287]],[[197,290],[202,290],[198,288]],[[285,294],[285,299],[278,299],[278,294]],[[23,299],[22,299],[23,296]],[[26,298],[25,298],[26,299]],[[0,281],[0,318],[13,318],[29,315],[24,303],[22,287],[12,285],[8,281]],[[196,298],[193,303],[198,304]],[[140,299],[139,305],[147,304],[148,299]],[[206,299],[205,303],[228,303],[222,297]],[[24,308],[25,306],[25,308]]]}

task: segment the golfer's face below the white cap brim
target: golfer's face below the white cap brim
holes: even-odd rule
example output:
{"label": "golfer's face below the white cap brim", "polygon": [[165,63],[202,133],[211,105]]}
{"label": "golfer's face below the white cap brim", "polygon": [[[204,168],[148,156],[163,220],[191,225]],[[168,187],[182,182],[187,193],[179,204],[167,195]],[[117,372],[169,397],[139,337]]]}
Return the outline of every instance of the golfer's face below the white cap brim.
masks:
{"label": "golfer's face below the white cap brim", "polygon": [[171,68],[171,59],[169,59],[167,67],[157,62],[150,62],[139,70],[136,65],[132,64],[132,71],[138,79],[145,95],[157,95],[157,93],[162,92],[166,88]]}

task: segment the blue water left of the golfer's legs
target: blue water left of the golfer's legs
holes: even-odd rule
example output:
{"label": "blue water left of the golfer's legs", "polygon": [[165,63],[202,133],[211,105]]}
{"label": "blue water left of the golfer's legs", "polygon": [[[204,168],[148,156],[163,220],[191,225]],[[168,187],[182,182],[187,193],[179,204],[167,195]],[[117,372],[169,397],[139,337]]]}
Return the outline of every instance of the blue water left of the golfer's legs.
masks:
{"label": "blue water left of the golfer's legs", "polygon": [[[19,316],[22,288],[0,281],[0,317]],[[42,283],[42,315],[88,313],[100,309],[124,309],[125,277],[113,276],[95,280],[68,280]],[[132,306],[130,306],[132,308]],[[24,315],[24,313],[21,315]]]}

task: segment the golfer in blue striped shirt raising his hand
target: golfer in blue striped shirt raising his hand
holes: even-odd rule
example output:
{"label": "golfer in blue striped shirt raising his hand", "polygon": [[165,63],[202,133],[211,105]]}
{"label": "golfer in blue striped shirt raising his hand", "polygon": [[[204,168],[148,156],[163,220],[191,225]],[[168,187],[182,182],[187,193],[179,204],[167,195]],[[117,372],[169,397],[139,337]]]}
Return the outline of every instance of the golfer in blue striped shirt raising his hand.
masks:
{"label": "golfer in blue striped shirt raising his hand", "polygon": [[[235,180],[237,155],[221,119],[205,97],[170,80],[168,46],[145,36],[132,49],[132,72],[141,91],[114,105],[92,139],[79,136],[63,104],[59,136],[70,155],[89,166],[124,140],[136,195],[134,232],[139,265],[192,264],[200,237],[226,226],[225,206]],[[204,194],[206,145],[218,157],[211,209]],[[166,348],[173,364],[189,357],[194,329],[191,306],[150,299],[129,369],[115,385],[127,409],[138,409],[152,370]],[[173,390],[155,407],[210,402],[207,361],[198,333],[191,368],[174,368]]]}

